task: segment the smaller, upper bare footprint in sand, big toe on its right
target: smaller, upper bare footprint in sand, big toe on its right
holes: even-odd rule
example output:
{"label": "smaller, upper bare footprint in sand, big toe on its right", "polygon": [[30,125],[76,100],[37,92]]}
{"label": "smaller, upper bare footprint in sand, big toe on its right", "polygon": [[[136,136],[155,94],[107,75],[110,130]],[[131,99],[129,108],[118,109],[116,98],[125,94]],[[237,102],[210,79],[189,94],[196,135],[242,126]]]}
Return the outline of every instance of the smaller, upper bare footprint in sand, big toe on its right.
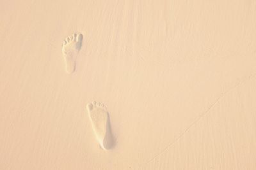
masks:
{"label": "smaller, upper bare footprint in sand, big toe on its right", "polygon": [[63,41],[62,53],[67,73],[73,73],[76,69],[76,57],[81,49],[82,40],[82,34],[73,34]]}

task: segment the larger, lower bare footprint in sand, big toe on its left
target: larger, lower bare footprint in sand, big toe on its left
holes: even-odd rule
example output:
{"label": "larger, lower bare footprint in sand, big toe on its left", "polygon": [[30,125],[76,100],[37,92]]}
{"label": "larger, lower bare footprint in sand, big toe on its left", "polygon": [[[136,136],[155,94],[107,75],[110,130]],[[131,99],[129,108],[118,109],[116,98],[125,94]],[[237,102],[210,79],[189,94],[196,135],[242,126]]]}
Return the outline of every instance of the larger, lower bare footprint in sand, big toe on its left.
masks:
{"label": "larger, lower bare footprint in sand, big toe on its left", "polygon": [[113,146],[108,111],[104,104],[93,102],[86,106],[92,123],[93,131],[101,148],[109,150]]}

